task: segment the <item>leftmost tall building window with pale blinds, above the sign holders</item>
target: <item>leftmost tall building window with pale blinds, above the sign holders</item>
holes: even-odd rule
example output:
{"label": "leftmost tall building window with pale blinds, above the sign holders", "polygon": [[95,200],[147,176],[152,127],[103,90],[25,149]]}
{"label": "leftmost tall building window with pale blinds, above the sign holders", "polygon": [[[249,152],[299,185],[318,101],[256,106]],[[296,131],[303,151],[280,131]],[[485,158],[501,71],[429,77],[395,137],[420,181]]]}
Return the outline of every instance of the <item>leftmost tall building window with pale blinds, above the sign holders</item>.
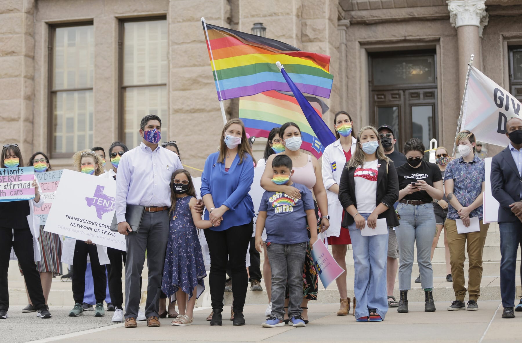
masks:
{"label": "leftmost tall building window with pale blinds, above the sign holders", "polygon": [[93,145],[92,23],[52,27],[50,41],[50,151],[53,157],[70,157]]}

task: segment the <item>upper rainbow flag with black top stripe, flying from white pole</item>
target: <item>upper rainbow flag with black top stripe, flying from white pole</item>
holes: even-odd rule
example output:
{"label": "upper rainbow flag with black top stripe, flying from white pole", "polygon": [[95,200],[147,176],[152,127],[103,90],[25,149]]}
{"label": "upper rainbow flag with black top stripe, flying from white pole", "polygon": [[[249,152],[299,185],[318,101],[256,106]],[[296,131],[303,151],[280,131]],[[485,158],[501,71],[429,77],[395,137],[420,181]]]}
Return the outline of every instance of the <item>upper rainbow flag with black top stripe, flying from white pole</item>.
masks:
{"label": "upper rainbow flag with black top stripe, flying from white pole", "polygon": [[[304,52],[289,44],[203,23],[219,100],[269,90],[290,91],[276,62],[303,93],[329,98],[334,76],[330,56]],[[212,58],[214,64],[212,64]]]}

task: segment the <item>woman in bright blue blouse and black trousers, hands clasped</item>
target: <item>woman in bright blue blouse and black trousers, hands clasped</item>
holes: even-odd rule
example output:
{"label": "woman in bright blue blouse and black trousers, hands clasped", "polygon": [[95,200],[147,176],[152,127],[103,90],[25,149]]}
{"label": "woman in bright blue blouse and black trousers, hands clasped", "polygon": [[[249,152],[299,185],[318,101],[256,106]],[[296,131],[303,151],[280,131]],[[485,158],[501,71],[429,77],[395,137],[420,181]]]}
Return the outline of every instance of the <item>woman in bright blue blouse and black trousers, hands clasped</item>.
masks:
{"label": "woman in bright blue blouse and black trousers, hands clasped", "polygon": [[245,304],[248,277],[245,256],[254,231],[254,204],[248,194],[254,181],[254,156],[240,119],[230,119],[224,126],[219,151],[210,154],[201,174],[201,197],[205,203],[205,219],[212,226],[205,230],[210,251],[210,325],[221,325],[223,292],[227,261],[234,280],[234,325],[245,325]]}

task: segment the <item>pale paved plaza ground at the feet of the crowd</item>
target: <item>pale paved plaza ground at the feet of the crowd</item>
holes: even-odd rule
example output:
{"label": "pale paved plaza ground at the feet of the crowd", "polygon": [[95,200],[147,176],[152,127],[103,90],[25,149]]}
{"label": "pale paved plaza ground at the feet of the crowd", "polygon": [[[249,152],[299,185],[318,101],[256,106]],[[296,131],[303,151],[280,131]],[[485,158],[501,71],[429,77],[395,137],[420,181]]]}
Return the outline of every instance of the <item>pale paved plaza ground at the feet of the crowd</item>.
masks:
{"label": "pale paved plaza ground at the feet of the crowd", "polygon": [[[146,322],[128,329],[123,324],[111,325],[112,313],[94,317],[87,312],[81,317],[68,317],[69,307],[53,306],[53,318],[41,320],[34,313],[21,313],[13,306],[9,318],[0,321],[2,341],[36,342],[520,342],[522,313],[514,319],[502,319],[499,301],[479,301],[479,311],[448,312],[448,302],[436,302],[437,311],[424,312],[421,302],[410,303],[410,313],[399,314],[390,309],[382,323],[357,323],[354,317],[337,316],[338,304],[310,304],[310,323],[305,328],[290,326],[263,328],[265,305],[245,307],[245,326],[211,327],[205,320],[209,308],[197,308],[194,324],[187,327],[170,325],[149,328]],[[228,306],[226,306],[226,309]],[[225,311],[227,312],[227,311]],[[519,314],[520,313],[520,314]],[[225,316],[223,316],[225,318]]]}

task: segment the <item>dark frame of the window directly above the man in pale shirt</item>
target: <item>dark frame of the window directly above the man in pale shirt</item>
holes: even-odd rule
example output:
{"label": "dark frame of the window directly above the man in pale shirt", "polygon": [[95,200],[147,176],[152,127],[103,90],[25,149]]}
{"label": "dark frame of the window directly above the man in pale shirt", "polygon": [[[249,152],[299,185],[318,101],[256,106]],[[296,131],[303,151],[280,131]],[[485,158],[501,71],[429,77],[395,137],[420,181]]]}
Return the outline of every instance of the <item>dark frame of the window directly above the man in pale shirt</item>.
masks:
{"label": "dark frame of the window directly above the man in pale shirt", "polygon": [[[156,21],[156,20],[167,20],[167,15],[159,15],[159,16],[147,16],[147,17],[136,17],[136,18],[124,18],[118,20],[118,118],[117,118],[117,135],[118,141],[125,142],[125,111],[124,111],[124,94],[125,89],[127,88],[138,88],[138,87],[153,87],[153,86],[165,86],[167,87],[168,82],[165,83],[154,83],[154,84],[137,84],[137,85],[125,85],[123,84],[123,73],[124,73],[124,64],[123,64],[123,42],[125,39],[125,23],[127,22],[139,22],[139,21]],[[168,26],[168,22],[167,22]],[[168,45],[168,44],[167,44]],[[169,72],[169,71],[168,71]],[[169,78],[167,77],[167,80]],[[167,97],[168,97],[168,89],[167,89]],[[169,123],[169,121],[168,121]]]}

